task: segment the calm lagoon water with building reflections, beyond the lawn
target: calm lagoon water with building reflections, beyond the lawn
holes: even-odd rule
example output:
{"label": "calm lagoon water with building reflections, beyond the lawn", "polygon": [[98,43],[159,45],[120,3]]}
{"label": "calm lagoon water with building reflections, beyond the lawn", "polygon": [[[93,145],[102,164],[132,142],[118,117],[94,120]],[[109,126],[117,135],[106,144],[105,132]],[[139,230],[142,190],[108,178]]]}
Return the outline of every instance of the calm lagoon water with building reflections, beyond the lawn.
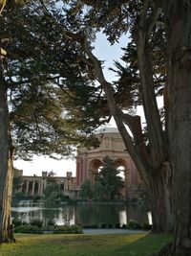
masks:
{"label": "calm lagoon water with building reflections, beyond the lawn", "polygon": [[129,220],[139,223],[148,221],[146,207],[140,205],[103,205],[103,204],[80,204],[64,205],[62,207],[45,207],[43,203],[32,201],[20,201],[12,206],[12,217],[23,222],[33,219],[43,221],[44,224],[54,222],[62,224],[127,224]]}

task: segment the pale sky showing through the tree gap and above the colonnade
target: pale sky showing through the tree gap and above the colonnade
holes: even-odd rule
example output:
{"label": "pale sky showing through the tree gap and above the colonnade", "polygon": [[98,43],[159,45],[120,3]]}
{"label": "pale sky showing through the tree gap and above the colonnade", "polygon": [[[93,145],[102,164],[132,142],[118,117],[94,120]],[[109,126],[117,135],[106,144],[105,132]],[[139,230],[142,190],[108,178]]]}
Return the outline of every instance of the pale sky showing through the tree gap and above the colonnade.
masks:
{"label": "pale sky showing through the tree gap and above the colonnade", "polygon": [[[110,45],[104,35],[99,33],[96,36],[94,54],[99,60],[104,62],[104,75],[108,81],[117,80],[115,74],[108,70],[112,67],[114,60],[119,60],[122,56],[121,47],[125,47],[128,42],[128,35],[121,36],[118,43]],[[116,127],[114,120],[110,125]],[[34,156],[32,161],[16,160],[14,167],[23,170],[23,175],[41,175],[42,171],[53,171],[58,176],[65,176],[66,172],[72,172],[75,175],[75,160],[54,160],[48,156]]]}

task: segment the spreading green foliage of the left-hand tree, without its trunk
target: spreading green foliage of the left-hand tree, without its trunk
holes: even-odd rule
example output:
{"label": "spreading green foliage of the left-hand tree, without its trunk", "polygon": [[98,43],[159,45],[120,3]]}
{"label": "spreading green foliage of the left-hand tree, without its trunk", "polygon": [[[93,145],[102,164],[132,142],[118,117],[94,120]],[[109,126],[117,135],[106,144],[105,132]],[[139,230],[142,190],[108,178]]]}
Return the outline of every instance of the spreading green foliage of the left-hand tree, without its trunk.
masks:
{"label": "spreading green foliage of the left-hand tree, without its trunk", "polygon": [[[59,19],[56,1],[51,9]],[[62,26],[67,25],[63,19]],[[80,47],[32,1],[9,2],[0,37],[8,52],[4,75],[16,156],[64,157],[79,142],[96,146],[92,130],[104,123],[108,111],[99,107],[105,101],[101,88],[88,79],[87,68],[78,61]]]}

